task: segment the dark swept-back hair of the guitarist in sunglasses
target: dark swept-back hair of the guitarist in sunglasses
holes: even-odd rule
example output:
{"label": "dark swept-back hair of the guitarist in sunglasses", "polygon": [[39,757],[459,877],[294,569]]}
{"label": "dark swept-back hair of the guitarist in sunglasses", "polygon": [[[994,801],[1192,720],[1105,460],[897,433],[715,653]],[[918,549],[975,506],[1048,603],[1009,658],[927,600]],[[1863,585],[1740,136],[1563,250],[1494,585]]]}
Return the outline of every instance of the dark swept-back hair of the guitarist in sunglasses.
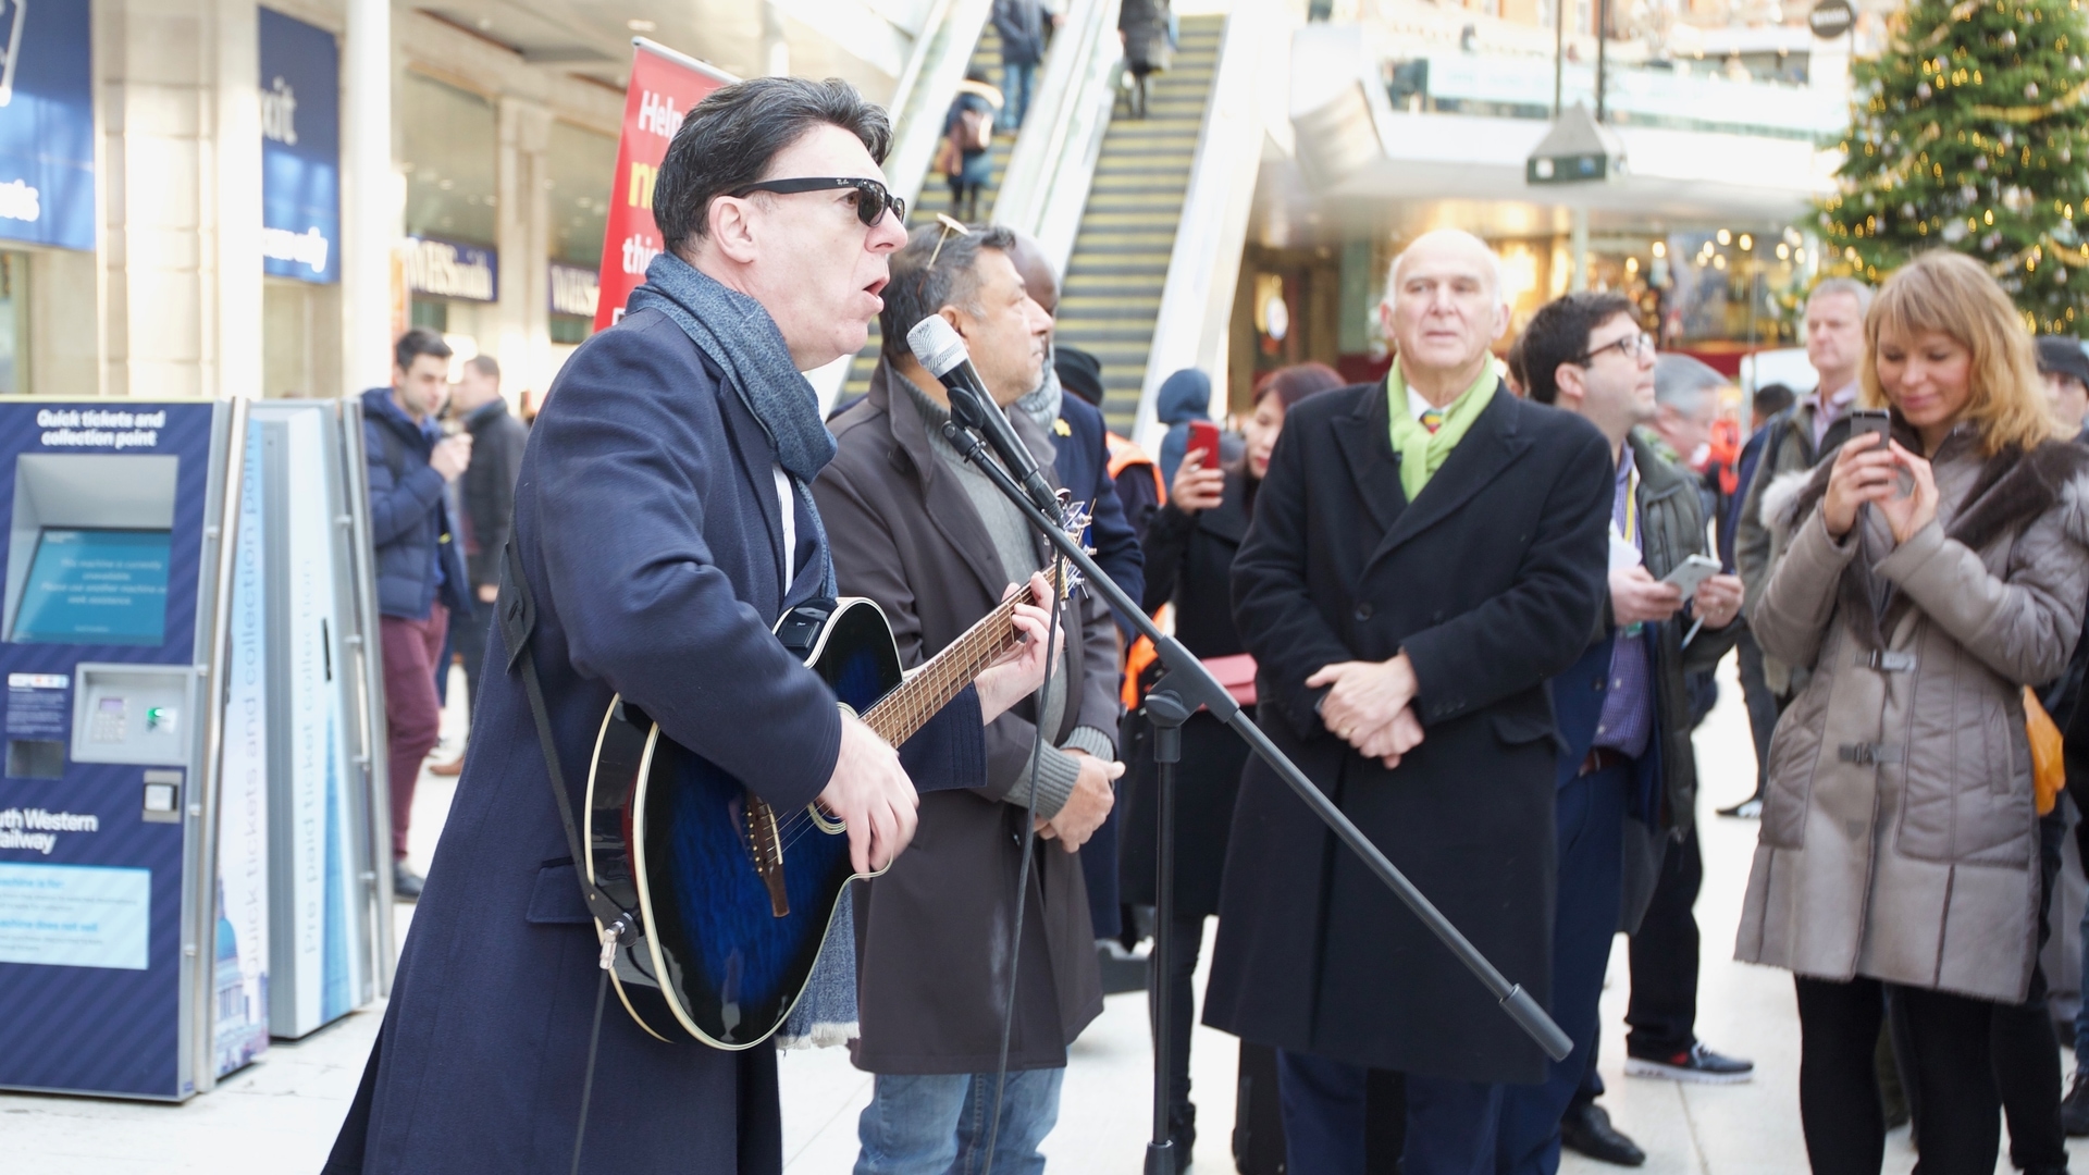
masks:
{"label": "dark swept-back hair of the guitarist in sunglasses", "polygon": [[886,161],[892,121],[840,77],[750,77],[689,107],[654,178],[662,245],[675,253],[706,236],[710,201],[758,184],[783,148],[821,123],[854,134],[871,159]]}

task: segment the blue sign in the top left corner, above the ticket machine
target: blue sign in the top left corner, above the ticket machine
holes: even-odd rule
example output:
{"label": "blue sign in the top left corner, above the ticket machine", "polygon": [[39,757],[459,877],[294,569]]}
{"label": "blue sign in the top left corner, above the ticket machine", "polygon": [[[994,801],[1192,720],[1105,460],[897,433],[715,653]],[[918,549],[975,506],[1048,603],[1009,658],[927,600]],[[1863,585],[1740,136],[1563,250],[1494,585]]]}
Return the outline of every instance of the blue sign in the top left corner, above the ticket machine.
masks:
{"label": "blue sign in the top left corner, above the ticket machine", "polygon": [[0,238],[94,249],[88,8],[0,0]]}

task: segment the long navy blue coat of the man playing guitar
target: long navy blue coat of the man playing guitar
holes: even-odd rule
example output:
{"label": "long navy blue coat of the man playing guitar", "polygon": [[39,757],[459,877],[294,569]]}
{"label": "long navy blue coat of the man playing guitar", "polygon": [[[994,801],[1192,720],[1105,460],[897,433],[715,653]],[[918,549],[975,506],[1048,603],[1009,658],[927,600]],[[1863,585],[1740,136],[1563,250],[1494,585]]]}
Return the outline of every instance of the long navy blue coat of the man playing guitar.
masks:
{"label": "long navy blue coat of the man playing guitar", "polygon": [[[817,594],[821,571],[800,506],[804,571],[781,583],[773,464],[754,416],[658,312],[627,316],[566,362],[522,456],[514,542],[570,786],[587,780],[618,692],[781,811],[827,784],[842,736],[834,694],[769,631]],[[902,759],[923,786],[984,782],[978,694]],[[464,778],[326,1173],[564,1173],[595,955],[529,702],[495,640]],[[662,1043],[610,999],[583,1171],[781,1162],[767,1043]]]}

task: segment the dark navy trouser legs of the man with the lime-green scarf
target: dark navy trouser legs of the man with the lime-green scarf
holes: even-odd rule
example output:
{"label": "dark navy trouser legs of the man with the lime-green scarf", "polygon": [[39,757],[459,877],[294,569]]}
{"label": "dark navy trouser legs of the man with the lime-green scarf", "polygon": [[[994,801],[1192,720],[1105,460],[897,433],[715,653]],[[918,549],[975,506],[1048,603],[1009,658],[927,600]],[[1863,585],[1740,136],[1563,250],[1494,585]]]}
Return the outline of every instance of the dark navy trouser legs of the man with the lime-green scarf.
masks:
{"label": "dark navy trouser legs of the man with the lime-green scarf", "polygon": [[[1285,1169],[1293,1175],[1364,1175],[1364,1085],[1370,1070],[1276,1050],[1285,1110]],[[1494,1175],[1502,1085],[1406,1075],[1404,1175]]]}

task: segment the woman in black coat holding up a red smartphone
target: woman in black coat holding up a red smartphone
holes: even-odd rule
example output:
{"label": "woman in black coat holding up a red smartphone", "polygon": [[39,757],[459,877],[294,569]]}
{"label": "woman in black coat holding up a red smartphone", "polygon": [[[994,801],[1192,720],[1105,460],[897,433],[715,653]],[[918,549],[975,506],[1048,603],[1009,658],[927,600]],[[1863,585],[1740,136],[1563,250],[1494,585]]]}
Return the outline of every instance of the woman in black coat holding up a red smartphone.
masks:
{"label": "woman in black coat holding up a red smartphone", "polygon": [[[1285,412],[1308,395],[1341,385],[1343,378],[1324,364],[1297,364],[1270,372],[1255,391],[1253,414],[1243,427],[1247,452],[1241,454],[1241,462],[1228,468],[1207,464],[1210,450],[1191,439],[1168,491],[1168,504],[1147,525],[1147,596],[1141,604],[1155,613],[1172,602],[1176,638],[1228,686],[1241,682],[1251,690],[1255,675],[1255,663],[1241,646],[1241,633],[1233,629],[1233,556],[1239,554],[1241,537],[1253,516],[1255,489],[1270,468],[1270,452],[1283,433]],[[1139,723],[1132,761],[1139,774],[1126,797],[1120,884],[1124,901],[1153,905],[1159,799],[1153,786],[1151,728],[1145,721]],[[1174,985],[1168,1123],[1184,1165],[1197,1137],[1197,1108],[1189,1102],[1189,1033],[1197,1012],[1191,974],[1203,947],[1203,920],[1218,914],[1233,797],[1241,786],[1245,763],[1247,744],[1210,713],[1195,713],[1182,725],[1172,828],[1176,949],[1168,960],[1170,974],[1153,974],[1149,983]]]}

